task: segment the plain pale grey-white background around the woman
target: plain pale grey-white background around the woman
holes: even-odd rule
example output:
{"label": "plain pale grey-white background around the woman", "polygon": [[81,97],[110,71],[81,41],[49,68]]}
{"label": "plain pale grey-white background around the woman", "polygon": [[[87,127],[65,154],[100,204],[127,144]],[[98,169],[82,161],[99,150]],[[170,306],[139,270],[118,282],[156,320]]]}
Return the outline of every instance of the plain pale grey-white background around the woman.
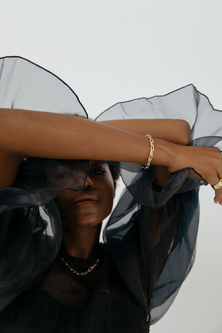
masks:
{"label": "plain pale grey-white background around the woman", "polygon": [[[117,102],[190,83],[222,109],[221,1],[1,0],[0,7],[0,57],[21,56],[58,75],[91,119]],[[152,333],[222,332],[222,207],[210,185],[199,198],[194,266]]]}

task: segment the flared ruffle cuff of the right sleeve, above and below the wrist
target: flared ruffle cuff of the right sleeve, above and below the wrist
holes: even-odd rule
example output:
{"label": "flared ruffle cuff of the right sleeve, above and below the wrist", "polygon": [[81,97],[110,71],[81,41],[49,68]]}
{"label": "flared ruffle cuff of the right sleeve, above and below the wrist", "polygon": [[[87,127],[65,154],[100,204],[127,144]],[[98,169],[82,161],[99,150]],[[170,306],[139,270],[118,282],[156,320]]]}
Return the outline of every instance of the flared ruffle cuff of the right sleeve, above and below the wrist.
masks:
{"label": "flared ruffle cuff of the right sleeve, above and below the wrist", "polygon": [[[95,121],[164,118],[183,119],[189,123],[191,142],[188,146],[217,147],[222,150],[222,112],[214,110],[208,98],[198,92],[192,84],[164,96],[116,103],[101,113]],[[151,185],[154,180],[152,166],[144,170],[138,164],[128,165],[127,167],[127,163],[120,164],[120,167],[127,169],[121,173],[123,182],[128,189],[130,188],[131,194],[145,206],[160,207],[174,193],[207,185],[206,180],[196,170],[186,167],[172,172],[167,184],[156,193]],[[142,183],[139,181],[140,177],[143,179]],[[135,186],[130,187],[132,178],[134,183],[139,183],[139,190]]]}

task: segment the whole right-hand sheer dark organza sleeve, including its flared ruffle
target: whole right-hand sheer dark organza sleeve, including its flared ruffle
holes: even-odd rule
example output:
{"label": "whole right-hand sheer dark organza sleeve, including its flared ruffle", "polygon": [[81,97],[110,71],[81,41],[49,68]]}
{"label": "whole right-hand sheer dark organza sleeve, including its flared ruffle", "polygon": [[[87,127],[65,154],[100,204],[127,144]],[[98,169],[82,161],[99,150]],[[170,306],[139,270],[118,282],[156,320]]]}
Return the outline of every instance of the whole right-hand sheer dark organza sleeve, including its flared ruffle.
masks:
{"label": "whole right-hand sheer dark organza sleeve, including its flared ruffle", "polygon": [[[222,151],[222,112],[214,110],[193,85],[164,96],[117,103],[96,121],[153,118],[186,120],[191,128],[188,146]],[[127,287],[146,311],[148,323],[154,324],[172,304],[193,265],[198,192],[207,182],[195,169],[186,167],[172,172],[160,188],[155,185],[152,165],[144,170],[137,164],[108,163],[120,166],[126,189],[104,229],[104,242]],[[175,225],[175,236],[154,284],[158,258]]]}

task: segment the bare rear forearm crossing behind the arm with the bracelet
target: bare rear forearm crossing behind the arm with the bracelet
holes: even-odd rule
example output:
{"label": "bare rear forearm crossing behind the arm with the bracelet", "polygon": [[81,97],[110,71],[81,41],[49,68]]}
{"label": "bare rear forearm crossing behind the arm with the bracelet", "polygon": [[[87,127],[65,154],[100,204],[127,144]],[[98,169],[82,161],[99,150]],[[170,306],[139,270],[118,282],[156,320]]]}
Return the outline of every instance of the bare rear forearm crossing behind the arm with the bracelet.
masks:
{"label": "bare rear forearm crossing behind the arm with the bracelet", "polygon": [[121,119],[100,123],[177,145],[187,145],[191,140],[190,125],[182,119]]}

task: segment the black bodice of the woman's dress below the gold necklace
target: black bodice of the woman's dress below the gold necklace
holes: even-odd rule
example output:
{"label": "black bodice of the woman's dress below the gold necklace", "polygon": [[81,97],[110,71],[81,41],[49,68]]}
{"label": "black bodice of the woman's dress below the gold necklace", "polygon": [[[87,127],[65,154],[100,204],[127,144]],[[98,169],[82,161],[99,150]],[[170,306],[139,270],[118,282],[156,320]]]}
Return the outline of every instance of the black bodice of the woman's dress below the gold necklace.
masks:
{"label": "black bodice of the woman's dress below the gold necklace", "polygon": [[[34,288],[29,286],[1,311],[1,333],[147,333],[135,299],[105,249],[103,253],[84,276],[73,274],[57,256]],[[77,271],[92,266],[86,259],[59,254]]]}

